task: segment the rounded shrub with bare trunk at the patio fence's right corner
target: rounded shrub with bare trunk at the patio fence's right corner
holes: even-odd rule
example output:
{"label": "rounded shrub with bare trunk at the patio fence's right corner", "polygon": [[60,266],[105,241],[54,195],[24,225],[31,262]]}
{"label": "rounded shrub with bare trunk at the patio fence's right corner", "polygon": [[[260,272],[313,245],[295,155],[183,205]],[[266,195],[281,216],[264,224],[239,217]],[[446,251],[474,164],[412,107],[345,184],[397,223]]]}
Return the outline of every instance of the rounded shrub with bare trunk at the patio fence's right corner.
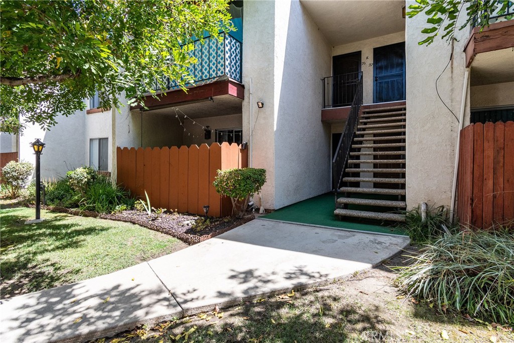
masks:
{"label": "rounded shrub with bare trunk at the patio fence's right corner", "polygon": [[232,213],[239,206],[238,216],[242,217],[253,194],[259,192],[266,183],[266,170],[256,168],[218,170],[214,179],[216,192],[229,196]]}

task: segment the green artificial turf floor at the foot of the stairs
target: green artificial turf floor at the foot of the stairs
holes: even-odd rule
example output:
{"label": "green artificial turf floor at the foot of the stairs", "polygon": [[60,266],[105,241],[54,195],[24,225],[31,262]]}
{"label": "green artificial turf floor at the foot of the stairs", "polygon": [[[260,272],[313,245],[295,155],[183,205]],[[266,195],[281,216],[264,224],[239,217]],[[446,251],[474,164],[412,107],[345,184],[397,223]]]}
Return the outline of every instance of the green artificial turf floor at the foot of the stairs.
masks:
{"label": "green artificial turf floor at the foot of the stairs", "polygon": [[[278,209],[274,212],[261,216],[261,218],[368,232],[392,233],[406,236],[405,232],[398,228],[388,227],[385,225],[373,225],[369,222],[359,220],[358,218],[348,218],[341,221],[336,215],[334,215],[334,202],[334,194],[326,193]],[[349,208],[359,210],[362,209],[362,206],[350,206]],[[370,208],[368,207],[366,210],[369,211]]]}

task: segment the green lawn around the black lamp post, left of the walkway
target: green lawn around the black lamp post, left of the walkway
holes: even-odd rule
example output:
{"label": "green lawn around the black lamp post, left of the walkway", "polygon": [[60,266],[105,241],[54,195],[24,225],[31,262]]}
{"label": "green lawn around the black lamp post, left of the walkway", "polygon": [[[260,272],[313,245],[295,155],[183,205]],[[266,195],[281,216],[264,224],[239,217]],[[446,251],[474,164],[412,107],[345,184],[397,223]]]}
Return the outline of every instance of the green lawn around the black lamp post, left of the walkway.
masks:
{"label": "green lawn around the black lamp post, left of the walkway", "polygon": [[185,244],[137,225],[41,211],[0,210],[2,298],[115,272]]}

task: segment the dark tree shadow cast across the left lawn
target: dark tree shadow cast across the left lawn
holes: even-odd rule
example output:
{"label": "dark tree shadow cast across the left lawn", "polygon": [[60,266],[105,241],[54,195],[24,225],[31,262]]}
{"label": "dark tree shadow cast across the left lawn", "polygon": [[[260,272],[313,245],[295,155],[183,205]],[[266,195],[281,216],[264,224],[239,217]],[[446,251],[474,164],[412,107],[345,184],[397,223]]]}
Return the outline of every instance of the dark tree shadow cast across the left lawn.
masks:
{"label": "dark tree shadow cast across the left lawn", "polygon": [[2,287],[9,298],[70,282],[79,268],[65,268],[52,260],[52,252],[80,247],[85,237],[106,230],[94,225],[65,223],[70,217],[55,215],[36,225],[25,225],[26,216],[2,215]]}

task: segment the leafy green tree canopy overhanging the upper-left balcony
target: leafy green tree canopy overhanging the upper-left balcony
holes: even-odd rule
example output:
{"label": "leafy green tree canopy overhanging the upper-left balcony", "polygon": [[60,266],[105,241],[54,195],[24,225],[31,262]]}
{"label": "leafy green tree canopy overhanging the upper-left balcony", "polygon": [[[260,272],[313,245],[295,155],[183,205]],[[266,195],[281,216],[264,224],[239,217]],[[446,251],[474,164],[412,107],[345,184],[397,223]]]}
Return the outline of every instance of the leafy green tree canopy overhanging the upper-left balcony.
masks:
{"label": "leafy green tree canopy overhanging the upper-left balcony", "polygon": [[48,128],[95,92],[119,108],[122,92],[140,102],[155,79],[183,87],[191,38],[233,28],[228,0],[2,0],[0,15],[3,132],[23,130],[20,116]]}

